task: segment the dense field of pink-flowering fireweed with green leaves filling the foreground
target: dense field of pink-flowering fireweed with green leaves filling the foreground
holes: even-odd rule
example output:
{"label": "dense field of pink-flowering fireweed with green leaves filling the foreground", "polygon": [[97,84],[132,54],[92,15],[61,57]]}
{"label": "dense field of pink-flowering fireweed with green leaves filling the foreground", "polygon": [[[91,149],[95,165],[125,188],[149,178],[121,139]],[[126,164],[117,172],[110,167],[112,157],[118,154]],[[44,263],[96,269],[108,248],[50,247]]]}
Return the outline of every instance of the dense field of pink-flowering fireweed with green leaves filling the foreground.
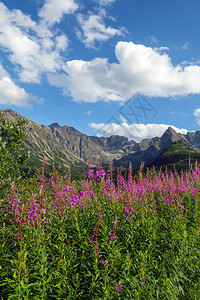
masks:
{"label": "dense field of pink-flowering fireweed with green leaves filling the foreground", "polygon": [[1,202],[1,300],[200,299],[197,165],[79,183],[42,170]]}

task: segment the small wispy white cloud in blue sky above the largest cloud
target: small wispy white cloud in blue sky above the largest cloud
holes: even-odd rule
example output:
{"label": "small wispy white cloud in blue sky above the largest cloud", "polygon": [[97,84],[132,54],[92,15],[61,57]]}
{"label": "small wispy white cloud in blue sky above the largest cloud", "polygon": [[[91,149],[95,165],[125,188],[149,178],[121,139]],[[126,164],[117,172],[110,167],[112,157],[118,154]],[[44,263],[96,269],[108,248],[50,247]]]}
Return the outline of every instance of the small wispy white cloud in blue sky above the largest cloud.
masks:
{"label": "small wispy white cloud in blue sky above the largest cloud", "polygon": [[77,36],[88,48],[94,47],[96,41],[103,42],[124,34],[123,29],[106,27],[102,15],[90,14],[85,17],[79,14],[77,19],[81,26],[81,31],[77,30]]}

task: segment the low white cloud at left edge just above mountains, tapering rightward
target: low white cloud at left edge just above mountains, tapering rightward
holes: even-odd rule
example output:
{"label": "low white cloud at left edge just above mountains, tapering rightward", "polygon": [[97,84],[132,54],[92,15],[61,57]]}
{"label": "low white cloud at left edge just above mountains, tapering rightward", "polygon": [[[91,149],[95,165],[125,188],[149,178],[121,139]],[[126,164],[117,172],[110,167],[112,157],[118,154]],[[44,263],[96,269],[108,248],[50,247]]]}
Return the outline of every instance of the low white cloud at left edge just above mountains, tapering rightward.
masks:
{"label": "low white cloud at left edge just above mountains, tapering rightward", "polygon": [[10,78],[8,72],[0,64],[0,104],[29,107],[29,101],[40,101],[23,88],[18,87]]}

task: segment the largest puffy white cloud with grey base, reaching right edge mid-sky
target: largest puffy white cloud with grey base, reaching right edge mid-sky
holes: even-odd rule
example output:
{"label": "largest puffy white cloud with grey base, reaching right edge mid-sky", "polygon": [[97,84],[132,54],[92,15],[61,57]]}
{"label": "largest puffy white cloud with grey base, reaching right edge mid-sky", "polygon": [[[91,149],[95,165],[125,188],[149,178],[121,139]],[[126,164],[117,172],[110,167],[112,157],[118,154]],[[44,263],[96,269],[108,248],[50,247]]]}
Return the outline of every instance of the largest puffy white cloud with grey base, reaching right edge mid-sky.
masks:
{"label": "largest puffy white cloud with grey base, reaching right edge mid-sky", "polygon": [[96,102],[126,101],[136,94],[173,97],[200,93],[199,65],[174,66],[165,52],[132,42],[118,42],[115,54],[118,63],[106,58],[66,62],[66,75],[62,75],[65,94],[76,101]]}

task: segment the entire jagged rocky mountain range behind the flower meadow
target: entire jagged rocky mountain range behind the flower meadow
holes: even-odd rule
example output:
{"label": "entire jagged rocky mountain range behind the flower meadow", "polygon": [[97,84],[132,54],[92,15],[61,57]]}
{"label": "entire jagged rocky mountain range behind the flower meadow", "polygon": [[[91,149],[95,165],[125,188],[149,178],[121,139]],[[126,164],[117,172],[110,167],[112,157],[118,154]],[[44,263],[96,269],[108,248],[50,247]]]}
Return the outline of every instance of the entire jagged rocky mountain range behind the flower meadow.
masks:
{"label": "entire jagged rocky mountain range behind the flower meadow", "polygon": [[[0,112],[3,113],[3,118],[9,121],[22,118],[9,108],[0,109]],[[45,155],[47,166],[77,168],[79,172],[85,169],[88,163],[95,166],[97,161],[101,161],[107,166],[111,160],[115,167],[128,168],[131,162],[133,169],[137,169],[141,162],[145,166],[151,166],[154,162],[156,165],[162,165],[163,160],[159,157],[163,157],[163,153],[173,145],[178,145],[179,154],[182,151],[187,157],[192,154],[198,159],[200,155],[200,131],[184,135],[169,127],[161,137],[144,139],[136,143],[118,135],[87,136],[73,127],[59,126],[58,123],[44,126],[30,119],[27,119],[26,130],[25,148],[31,153],[28,163],[30,167],[39,167]],[[174,151],[177,151],[176,146]],[[174,153],[173,147],[168,153]],[[166,159],[163,164],[164,162],[167,163]]]}

